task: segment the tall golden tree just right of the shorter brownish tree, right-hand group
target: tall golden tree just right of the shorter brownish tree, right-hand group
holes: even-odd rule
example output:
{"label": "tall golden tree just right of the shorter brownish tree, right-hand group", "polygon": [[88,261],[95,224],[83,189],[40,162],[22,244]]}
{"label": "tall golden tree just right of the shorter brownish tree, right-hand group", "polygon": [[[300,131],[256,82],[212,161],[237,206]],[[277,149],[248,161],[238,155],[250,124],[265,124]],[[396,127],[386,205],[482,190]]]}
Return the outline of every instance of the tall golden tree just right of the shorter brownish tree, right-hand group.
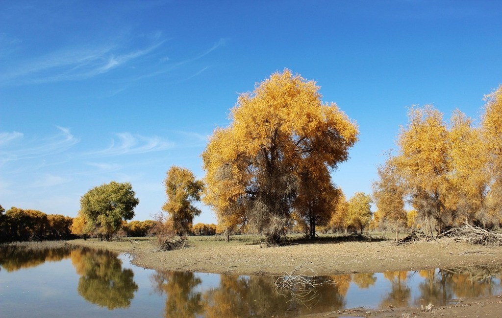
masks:
{"label": "tall golden tree just right of the shorter brownish tree, right-hand group", "polygon": [[[435,220],[438,233],[451,219],[446,213],[450,143],[443,114],[431,105],[411,108],[409,123],[398,140],[397,167],[412,196],[413,206],[426,220]],[[432,232],[432,231],[431,231]]]}

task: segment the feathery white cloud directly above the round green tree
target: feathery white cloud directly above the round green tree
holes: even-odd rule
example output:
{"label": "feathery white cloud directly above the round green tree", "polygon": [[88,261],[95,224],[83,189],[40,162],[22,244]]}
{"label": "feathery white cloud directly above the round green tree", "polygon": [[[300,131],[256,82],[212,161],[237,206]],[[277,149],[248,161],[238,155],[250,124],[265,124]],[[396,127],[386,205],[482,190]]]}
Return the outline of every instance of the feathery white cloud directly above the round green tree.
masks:
{"label": "feathery white cloud directly above the round green tree", "polygon": [[162,151],[172,148],[174,144],[159,137],[144,137],[131,133],[115,134],[118,140],[112,140],[111,145],[103,150],[89,153],[94,156],[118,156],[142,154],[154,151]]}

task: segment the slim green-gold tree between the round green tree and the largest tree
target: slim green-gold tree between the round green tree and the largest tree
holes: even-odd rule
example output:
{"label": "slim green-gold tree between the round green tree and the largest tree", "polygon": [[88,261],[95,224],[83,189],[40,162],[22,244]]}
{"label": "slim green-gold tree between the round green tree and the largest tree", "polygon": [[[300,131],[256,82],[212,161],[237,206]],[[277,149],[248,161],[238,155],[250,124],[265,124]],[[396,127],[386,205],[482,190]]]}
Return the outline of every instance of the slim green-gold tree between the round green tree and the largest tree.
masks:
{"label": "slim green-gold tree between the round green tree and the largest tree", "polygon": [[167,202],[162,210],[169,213],[176,233],[179,236],[187,235],[192,229],[193,218],[200,214],[200,210],[193,206],[193,203],[200,201],[204,184],[195,180],[190,170],[176,166],[167,171],[164,184]]}

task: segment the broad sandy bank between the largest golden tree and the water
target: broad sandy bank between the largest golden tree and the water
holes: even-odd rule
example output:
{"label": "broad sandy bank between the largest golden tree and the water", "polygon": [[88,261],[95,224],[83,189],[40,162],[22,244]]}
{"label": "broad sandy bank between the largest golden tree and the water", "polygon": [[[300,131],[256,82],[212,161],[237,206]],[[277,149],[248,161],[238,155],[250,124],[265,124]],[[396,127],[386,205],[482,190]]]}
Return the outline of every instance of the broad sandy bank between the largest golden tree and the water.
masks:
{"label": "broad sandy bank between the largest golden tree and the water", "polygon": [[305,264],[319,275],[330,275],[502,262],[502,248],[472,246],[450,239],[401,246],[389,241],[268,248],[224,244],[155,253],[136,248],[132,250],[133,263],[152,269],[262,275],[282,274]]}

